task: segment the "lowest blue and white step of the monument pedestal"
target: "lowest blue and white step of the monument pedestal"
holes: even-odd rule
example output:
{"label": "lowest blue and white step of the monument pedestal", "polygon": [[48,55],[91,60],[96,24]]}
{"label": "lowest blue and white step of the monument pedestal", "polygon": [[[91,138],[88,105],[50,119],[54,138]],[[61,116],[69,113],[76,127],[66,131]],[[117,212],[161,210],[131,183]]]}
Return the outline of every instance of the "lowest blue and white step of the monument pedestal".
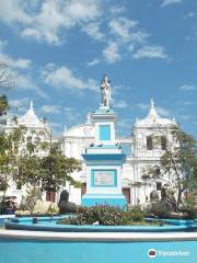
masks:
{"label": "lowest blue and white step of the monument pedestal", "polygon": [[82,196],[81,205],[109,205],[126,209],[127,201],[123,194],[85,194]]}

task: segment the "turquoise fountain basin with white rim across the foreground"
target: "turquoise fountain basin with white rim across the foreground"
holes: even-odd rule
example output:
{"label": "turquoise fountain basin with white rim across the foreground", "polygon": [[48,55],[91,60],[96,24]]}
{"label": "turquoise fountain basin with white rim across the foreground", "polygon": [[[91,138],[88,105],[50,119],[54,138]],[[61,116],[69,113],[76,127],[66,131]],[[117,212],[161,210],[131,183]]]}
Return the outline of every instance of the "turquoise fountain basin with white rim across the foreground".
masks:
{"label": "turquoise fountain basin with white rim across the foreground", "polygon": [[[32,228],[31,230],[2,229],[0,231],[0,262],[3,263],[196,263],[197,259],[197,232],[192,231],[194,229],[188,231],[188,226],[195,225],[192,221],[184,220],[177,225],[177,221],[173,220],[174,225],[163,227],[177,227],[179,231],[162,232],[137,232],[134,231],[134,227],[131,231],[128,226],[62,225],[54,231],[55,220],[50,218],[48,220],[40,218],[37,224],[32,224],[31,218],[20,218],[20,222],[11,220],[7,222],[7,226],[8,224],[26,227],[40,225],[40,228],[34,230]],[[48,226],[47,231],[44,229],[45,226]],[[60,228],[61,231],[59,231]],[[62,228],[66,231],[62,231]],[[80,228],[83,231],[79,231]],[[121,231],[115,231],[115,228]],[[105,229],[105,231],[96,231],[96,229]]]}

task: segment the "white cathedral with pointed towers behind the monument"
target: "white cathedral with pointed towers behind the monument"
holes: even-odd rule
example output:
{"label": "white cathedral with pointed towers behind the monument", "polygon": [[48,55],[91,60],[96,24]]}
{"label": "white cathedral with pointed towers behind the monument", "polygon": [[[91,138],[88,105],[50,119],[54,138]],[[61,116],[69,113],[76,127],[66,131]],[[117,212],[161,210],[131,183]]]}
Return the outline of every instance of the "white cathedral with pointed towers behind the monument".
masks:
{"label": "white cathedral with pointed towers behind the monument", "polygon": [[[102,87],[101,87],[102,90]],[[28,141],[34,142],[37,139],[42,141],[49,141],[50,129],[44,119],[39,119],[33,107],[33,102],[24,116],[18,118],[18,124],[8,119],[4,126],[5,133],[23,125],[26,127],[26,134],[23,145]],[[176,126],[175,119],[167,119],[159,116],[154,107],[154,102],[151,100],[150,110],[147,117],[136,119],[134,127],[131,127],[131,135],[128,137],[116,137],[116,142],[121,147],[123,152],[126,153],[126,162],[123,165],[123,194],[126,196],[127,203],[136,205],[138,203],[146,203],[152,190],[160,192],[162,181],[158,180],[153,184],[143,180],[142,170],[147,167],[157,165],[160,162],[160,157],[167,147],[167,141],[171,140],[171,129]],[[69,201],[81,204],[81,197],[86,191],[86,171],[83,162],[82,153],[91,144],[95,141],[95,126],[91,122],[88,114],[86,123],[79,124],[67,130],[58,139],[61,150],[67,157],[73,157],[82,162],[82,170],[74,172],[72,176],[82,183],[81,188],[76,188],[72,185],[65,185],[60,187],[59,193],[67,188],[69,191]],[[157,142],[154,140],[157,139]],[[158,144],[160,141],[160,144]],[[37,152],[44,155],[44,152]],[[166,176],[166,180],[170,180]],[[8,190],[8,195],[15,195],[20,202],[24,188],[20,188],[12,184]],[[46,193],[46,199],[58,202],[59,193]]]}

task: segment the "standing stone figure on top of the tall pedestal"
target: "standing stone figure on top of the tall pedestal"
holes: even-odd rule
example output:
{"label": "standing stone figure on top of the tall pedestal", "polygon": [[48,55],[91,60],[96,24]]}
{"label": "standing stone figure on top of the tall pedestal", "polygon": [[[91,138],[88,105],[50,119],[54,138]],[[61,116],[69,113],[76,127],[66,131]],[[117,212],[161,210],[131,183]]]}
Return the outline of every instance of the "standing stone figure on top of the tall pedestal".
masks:
{"label": "standing stone figure on top of the tall pedestal", "polygon": [[111,103],[111,81],[108,77],[105,75],[101,82],[101,105],[109,106]]}

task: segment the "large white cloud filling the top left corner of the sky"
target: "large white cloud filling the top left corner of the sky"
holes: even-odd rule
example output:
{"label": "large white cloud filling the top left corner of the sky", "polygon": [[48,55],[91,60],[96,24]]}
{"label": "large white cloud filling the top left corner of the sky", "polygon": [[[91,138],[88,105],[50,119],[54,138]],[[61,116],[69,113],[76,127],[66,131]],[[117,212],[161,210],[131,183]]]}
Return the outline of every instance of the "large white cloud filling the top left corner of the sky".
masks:
{"label": "large white cloud filling the top left corner of the sky", "polygon": [[[48,0],[37,4],[1,0],[0,20],[16,26],[23,37],[59,45],[66,31],[94,21],[101,14],[96,0]],[[95,30],[95,28],[94,28]]]}

